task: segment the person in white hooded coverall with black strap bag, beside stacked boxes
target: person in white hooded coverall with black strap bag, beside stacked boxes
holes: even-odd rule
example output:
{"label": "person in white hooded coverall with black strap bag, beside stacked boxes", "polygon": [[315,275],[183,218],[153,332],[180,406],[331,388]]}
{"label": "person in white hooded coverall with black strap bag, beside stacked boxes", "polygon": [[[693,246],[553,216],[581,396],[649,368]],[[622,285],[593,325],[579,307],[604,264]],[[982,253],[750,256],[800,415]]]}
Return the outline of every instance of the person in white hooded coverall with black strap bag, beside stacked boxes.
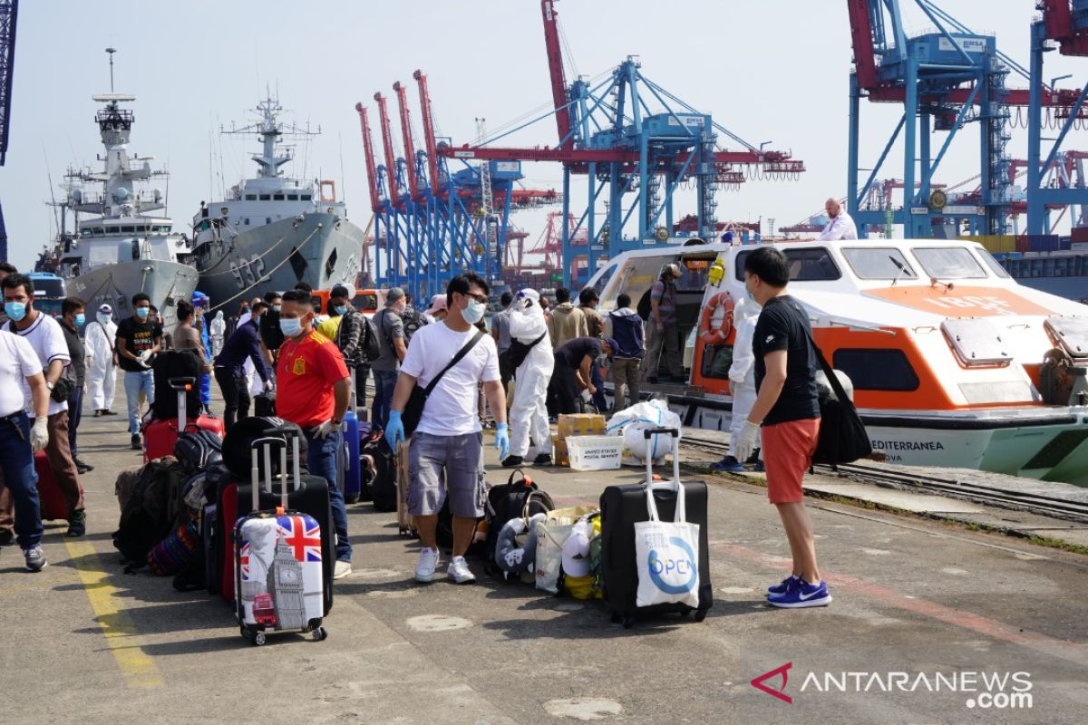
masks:
{"label": "person in white hooded coverall with black strap bag, beside stacked boxes", "polygon": [[510,309],[510,339],[532,345],[515,372],[517,383],[510,405],[510,453],[503,465],[521,465],[529,453],[529,438],[536,446],[534,465],[552,465],[552,436],[547,424],[547,384],[555,360],[548,339],[547,321],[540,304],[540,293],[523,289]]}

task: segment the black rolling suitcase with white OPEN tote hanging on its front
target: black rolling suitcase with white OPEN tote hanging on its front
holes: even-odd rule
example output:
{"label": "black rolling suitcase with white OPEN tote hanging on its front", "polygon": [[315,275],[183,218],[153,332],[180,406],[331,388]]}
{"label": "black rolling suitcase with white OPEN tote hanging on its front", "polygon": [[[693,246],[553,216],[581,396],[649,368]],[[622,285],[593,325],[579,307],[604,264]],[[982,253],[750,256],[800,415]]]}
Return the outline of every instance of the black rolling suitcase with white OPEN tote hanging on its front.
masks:
{"label": "black rolling suitcase with white OPEN tote hanging on its front", "polygon": [[[677,612],[687,616],[695,612],[695,621],[702,622],[714,604],[714,588],[710,586],[710,557],[706,533],[706,483],[702,480],[680,483],[684,487],[687,520],[698,524],[698,607],[682,603],[636,607],[639,590],[638,562],[635,561],[634,525],[648,521],[646,511],[647,489],[652,490],[662,521],[671,521],[676,513],[677,493],[675,482],[680,482],[679,430],[676,428],[651,428],[652,435],[664,434],[672,437],[672,482],[653,483],[653,462],[646,461],[646,484],[609,486],[601,495],[601,574],[604,582],[605,604],[611,613],[613,622],[622,622],[625,627],[634,624],[636,616]],[[660,488],[658,488],[660,487]]]}

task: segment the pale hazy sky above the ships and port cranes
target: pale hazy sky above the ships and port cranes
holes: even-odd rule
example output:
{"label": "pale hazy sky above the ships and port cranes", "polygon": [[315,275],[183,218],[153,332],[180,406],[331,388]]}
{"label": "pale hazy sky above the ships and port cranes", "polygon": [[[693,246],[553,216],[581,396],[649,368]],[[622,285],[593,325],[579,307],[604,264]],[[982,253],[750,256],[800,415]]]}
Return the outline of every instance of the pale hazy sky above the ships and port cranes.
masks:
{"label": "pale hazy sky above the ships and port cranes", "polygon": [[[975,30],[997,34],[999,48],[1025,66],[1034,5],[1033,0],[942,3]],[[903,0],[903,8],[908,30],[930,26],[911,0]],[[561,0],[557,10],[573,55],[566,59],[568,68],[597,76],[638,54],[647,77],[733,133],[756,145],[770,140],[768,148],[791,150],[805,161],[808,171],[799,182],[751,182],[739,191],[719,192],[719,220],[774,217],[782,226],[815,213],[828,196],[845,192],[851,48],[842,0]],[[9,250],[20,266],[30,265],[54,233],[53,212],[44,204],[50,195],[47,173],[55,189],[70,164],[97,166],[102,147],[94,124],[98,104],[90,97],[109,89],[107,46],[119,50],[116,89],[137,96],[129,150],[169,163],[170,212],[186,228],[200,200],[218,198],[224,186],[252,175],[248,153],[257,141],[220,137],[218,129],[249,121],[246,111],[265,86],[279,90],[296,123],[322,129],[308,150],[299,148],[292,171],[301,176],[306,157],[307,176],[320,172],[336,179],[360,226],[370,209],[356,101],[373,108],[375,90],[392,101],[393,82],[409,84],[420,146],[416,68],[430,78],[441,133],[457,142],[474,138],[477,116],[496,128],[551,99],[537,0],[23,2],[11,142],[0,168]],[[1088,70],[1088,59],[1056,52],[1047,63],[1048,76],[1074,74],[1063,85],[1083,83]],[[572,77],[568,70],[568,82]],[[1026,82],[1011,75],[1009,86]],[[396,122],[395,104],[391,111]],[[863,105],[863,166],[876,160],[901,112],[895,105]],[[399,145],[396,126],[394,136]],[[380,146],[376,124],[374,140]],[[555,145],[555,123],[548,118],[508,140]],[[1073,132],[1071,141],[1066,148],[1088,146],[1084,132]],[[1026,155],[1023,130],[1013,132],[1010,150]],[[902,176],[898,159],[882,177]],[[974,128],[961,132],[942,168],[942,180],[950,184],[978,173]],[[560,188],[556,164],[526,164],[524,171],[529,186]],[[692,211],[680,207],[678,216]],[[544,216],[527,213],[515,223],[533,241]]]}

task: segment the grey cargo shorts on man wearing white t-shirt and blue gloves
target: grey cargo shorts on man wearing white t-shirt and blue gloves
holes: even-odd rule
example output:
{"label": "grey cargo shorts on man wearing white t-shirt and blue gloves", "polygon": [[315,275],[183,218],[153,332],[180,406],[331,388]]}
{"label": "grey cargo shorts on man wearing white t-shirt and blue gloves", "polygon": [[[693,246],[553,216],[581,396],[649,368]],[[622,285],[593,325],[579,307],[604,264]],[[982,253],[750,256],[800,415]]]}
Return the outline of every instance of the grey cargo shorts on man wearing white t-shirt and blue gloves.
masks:
{"label": "grey cargo shorts on man wearing white t-shirt and blue gloves", "polygon": [[448,489],[450,513],[482,516],[486,503],[483,474],[482,433],[435,436],[417,430],[408,443],[408,513],[436,515]]}

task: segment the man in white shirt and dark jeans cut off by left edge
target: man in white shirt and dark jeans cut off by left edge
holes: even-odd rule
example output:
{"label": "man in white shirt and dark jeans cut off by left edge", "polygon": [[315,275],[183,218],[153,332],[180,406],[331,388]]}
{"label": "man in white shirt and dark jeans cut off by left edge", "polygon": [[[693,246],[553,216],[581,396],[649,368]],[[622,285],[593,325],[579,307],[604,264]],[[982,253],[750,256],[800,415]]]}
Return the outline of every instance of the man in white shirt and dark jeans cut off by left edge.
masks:
{"label": "man in white shirt and dark jeans cut off by left edge", "polygon": [[[34,393],[33,427],[24,410],[24,384]],[[45,425],[48,407],[49,389],[34,348],[17,335],[0,332],[0,470],[15,508],[15,541],[32,572],[40,572],[46,565],[34,453],[49,440]]]}

